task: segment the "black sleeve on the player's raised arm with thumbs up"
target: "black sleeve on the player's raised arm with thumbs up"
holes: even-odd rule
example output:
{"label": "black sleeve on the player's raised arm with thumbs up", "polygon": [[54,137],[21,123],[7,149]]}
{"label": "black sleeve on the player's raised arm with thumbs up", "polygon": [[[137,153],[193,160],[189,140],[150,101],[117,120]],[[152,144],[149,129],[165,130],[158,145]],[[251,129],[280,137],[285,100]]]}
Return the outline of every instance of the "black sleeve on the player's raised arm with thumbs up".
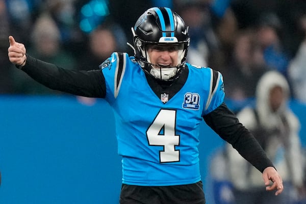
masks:
{"label": "black sleeve on the player's raised arm with thumbs up", "polygon": [[101,70],[64,69],[29,55],[22,70],[50,89],[95,98],[104,98],[106,94],[105,78]]}

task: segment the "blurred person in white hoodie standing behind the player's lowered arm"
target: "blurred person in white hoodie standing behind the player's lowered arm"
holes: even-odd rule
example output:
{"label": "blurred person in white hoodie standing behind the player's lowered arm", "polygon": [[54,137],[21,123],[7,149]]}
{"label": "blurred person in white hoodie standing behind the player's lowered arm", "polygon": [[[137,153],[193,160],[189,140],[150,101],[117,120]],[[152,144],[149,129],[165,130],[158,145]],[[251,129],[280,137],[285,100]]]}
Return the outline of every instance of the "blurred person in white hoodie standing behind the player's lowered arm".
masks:
{"label": "blurred person in white hoodie standing behind the player's lowered arm", "polygon": [[282,175],[284,194],[271,197],[260,187],[258,173],[230,145],[226,146],[230,178],[236,203],[290,204],[303,188],[303,170],[299,139],[300,122],[287,106],[289,85],[277,71],[268,71],[256,90],[256,107],[246,107],[237,114],[240,122],[253,133]]}

